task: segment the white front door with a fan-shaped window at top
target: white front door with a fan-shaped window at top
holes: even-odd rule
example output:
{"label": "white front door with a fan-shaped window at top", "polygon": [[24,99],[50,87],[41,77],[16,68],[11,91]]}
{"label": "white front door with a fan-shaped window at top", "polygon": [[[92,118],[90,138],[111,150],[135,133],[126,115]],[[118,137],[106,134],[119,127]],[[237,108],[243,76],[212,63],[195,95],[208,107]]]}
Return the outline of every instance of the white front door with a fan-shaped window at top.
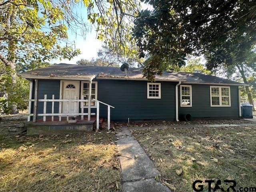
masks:
{"label": "white front door with a fan-shaped window at top", "polygon": [[[79,82],[64,81],[62,84],[62,99],[78,99],[79,98]],[[78,113],[78,102],[63,102],[62,113]]]}

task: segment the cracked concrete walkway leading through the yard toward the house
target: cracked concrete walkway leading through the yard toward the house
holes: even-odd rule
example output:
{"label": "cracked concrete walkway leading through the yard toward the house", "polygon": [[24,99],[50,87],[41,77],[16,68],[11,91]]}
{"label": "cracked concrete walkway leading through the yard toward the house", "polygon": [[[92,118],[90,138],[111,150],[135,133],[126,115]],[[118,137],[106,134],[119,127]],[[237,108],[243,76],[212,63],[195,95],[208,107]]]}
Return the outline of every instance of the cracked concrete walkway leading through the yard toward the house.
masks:
{"label": "cracked concrete walkway leading through the yard toward the house", "polygon": [[124,192],[170,192],[167,186],[154,179],[160,173],[131,135],[129,128],[122,127],[117,136]]}

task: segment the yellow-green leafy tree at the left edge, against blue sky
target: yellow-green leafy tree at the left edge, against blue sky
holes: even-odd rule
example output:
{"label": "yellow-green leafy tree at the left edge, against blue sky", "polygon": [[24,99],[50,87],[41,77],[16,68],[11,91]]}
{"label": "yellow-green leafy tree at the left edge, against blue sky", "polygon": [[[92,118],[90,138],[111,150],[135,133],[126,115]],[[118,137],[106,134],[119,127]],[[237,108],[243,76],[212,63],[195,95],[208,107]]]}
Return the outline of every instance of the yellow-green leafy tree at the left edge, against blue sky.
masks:
{"label": "yellow-green leafy tree at the left edge, against blue sky", "polygon": [[[0,60],[12,77],[12,86],[16,86],[17,62],[70,59],[80,53],[67,45],[67,26],[87,31],[72,11],[77,5],[76,0],[0,1]],[[66,46],[61,46],[63,43]]]}

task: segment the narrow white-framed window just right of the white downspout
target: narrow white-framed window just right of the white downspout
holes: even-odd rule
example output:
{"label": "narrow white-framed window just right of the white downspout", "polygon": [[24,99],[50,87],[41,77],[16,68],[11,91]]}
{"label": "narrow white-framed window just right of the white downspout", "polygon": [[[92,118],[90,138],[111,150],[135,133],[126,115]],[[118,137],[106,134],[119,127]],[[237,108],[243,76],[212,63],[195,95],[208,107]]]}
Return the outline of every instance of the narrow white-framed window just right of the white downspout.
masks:
{"label": "narrow white-framed window just right of the white downspout", "polygon": [[192,107],[192,86],[191,85],[180,86],[180,106]]}

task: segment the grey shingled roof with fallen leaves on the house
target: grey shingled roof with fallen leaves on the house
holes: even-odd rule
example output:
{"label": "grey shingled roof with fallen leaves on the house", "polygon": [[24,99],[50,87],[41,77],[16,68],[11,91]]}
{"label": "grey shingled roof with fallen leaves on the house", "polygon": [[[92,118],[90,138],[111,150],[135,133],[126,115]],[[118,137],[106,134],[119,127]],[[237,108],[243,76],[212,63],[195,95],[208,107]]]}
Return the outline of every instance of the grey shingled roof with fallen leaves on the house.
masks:
{"label": "grey shingled roof with fallen leaves on the house", "polygon": [[[129,68],[127,76],[119,67],[106,66],[84,66],[73,64],[56,64],[46,68],[39,68],[18,74],[27,79],[61,79],[61,80],[92,80],[97,79],[126,79],[126,80],[147,80],[143,78],[142,68]],[[245,85],[240,82],[206,75],[202,73],[168,72],[164,71],[162,76],[156,75],[158,81],[187,82],[193,84],[234,84]]]}

